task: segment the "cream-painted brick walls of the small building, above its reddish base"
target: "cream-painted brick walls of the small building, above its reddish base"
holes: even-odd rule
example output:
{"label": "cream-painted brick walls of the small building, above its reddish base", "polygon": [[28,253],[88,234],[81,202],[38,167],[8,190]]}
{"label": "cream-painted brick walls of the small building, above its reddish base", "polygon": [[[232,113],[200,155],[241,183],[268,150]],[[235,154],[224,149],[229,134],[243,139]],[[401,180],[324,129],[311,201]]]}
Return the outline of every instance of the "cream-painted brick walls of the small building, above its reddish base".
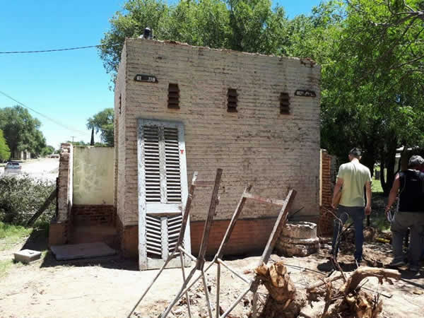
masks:
{"label": "cream-painted brick walls of the small building, above its reddish base", "polygon": [[[152,74],[158,83],[134,81]],[[118,134],[118,214],[123,225],[138,221],[137,119],[183,122],[187,173],[211,180],[223,168],[215,220],[229,219],[247,183],[261,196],[298,195],[298,216],[319,214],[319,79],[313,62],[228,50],[127,39],[115,90],[122,95]],[[167,108],[169,83],[178,83],[179,110]],[[238,112],[227,112],[228,88],[237,89]],[[316,98],[295,96],[308,89]],[[279,96],[290,95],[290,114]],[[211,190],[196,189],[192,220],[204,220]],[[248,202],[242,218],[269,218],[278,207]],[[266,235],[267,236],[267,235]]]}

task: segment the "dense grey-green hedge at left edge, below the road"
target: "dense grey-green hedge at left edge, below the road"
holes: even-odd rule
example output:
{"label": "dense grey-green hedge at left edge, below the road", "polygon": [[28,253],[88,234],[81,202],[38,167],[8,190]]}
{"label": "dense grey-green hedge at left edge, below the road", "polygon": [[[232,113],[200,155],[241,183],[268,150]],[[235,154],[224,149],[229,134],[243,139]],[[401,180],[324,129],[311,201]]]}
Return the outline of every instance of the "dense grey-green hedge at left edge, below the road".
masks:
{"label": "dense grey-green hedge at left edge, below the road", "polygon": [[[42,206],[56,184],[32,179],[28,175],[0,177],[0,221],[25,225]],[[38,221],[49,222],[56,211],[56,200],[42,213]]]}

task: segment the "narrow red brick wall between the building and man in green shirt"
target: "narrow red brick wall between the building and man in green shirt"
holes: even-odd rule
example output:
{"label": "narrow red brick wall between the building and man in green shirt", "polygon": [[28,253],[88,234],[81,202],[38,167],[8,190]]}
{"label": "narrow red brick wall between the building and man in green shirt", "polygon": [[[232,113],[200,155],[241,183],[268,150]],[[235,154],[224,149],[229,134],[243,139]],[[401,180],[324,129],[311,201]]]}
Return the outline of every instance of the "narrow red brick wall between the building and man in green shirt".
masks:
{"label": "narrow red brick wall between the building and man in green shirt", "polygon": [[329,155],[327,151],[321,151],[321,206],[319,207],[318,235],[329,235],[333,232],[334,216],[331,201],[333,199],[333,189],[336,184],[338,162],[335,156]]}

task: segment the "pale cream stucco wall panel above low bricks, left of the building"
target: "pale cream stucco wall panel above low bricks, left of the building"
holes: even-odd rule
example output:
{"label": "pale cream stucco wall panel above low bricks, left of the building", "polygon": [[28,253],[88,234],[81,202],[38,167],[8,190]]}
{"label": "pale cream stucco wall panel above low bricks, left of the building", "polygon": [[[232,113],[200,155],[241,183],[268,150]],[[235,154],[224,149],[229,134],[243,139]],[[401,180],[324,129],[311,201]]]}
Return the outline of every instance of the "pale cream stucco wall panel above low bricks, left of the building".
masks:
{"label": "pale cream stucco wall panel above low bricks, left of the building", "polygon": [[114,148],[73,148],[73,204],[114,204]]}

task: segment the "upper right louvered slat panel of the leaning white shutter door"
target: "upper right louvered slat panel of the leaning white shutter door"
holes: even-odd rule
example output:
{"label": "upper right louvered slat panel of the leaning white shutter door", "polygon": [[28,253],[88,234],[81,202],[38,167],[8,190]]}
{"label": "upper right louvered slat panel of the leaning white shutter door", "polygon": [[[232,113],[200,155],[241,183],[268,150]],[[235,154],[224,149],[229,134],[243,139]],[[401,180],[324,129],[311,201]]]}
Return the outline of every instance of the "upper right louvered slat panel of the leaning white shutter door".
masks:
{"label": "upper right louvered slat panel of the leaning white shutter door", "polygon": [[178,129],[164,127],[166,197],[167,203],[179,203],[181,199],[181,172],[179,168]]}

